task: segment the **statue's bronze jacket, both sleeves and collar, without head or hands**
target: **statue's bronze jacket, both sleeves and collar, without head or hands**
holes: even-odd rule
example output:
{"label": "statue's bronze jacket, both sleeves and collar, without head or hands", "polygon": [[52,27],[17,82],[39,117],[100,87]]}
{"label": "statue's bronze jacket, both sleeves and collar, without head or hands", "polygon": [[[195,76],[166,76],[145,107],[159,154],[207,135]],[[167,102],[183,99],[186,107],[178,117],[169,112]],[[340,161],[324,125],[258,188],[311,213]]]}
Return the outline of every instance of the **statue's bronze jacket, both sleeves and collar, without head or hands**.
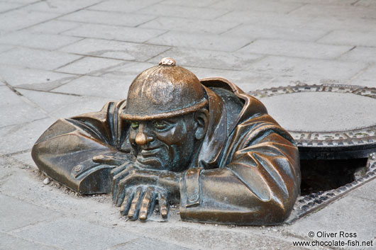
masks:
{"label": "statue's bronze jacket, both sleeves and collar, without head or hands", "polygon": [[[209,98],[206,137],[180,181],[182,220],[274,225],[292,210],[300,187],[299,152],[265,106],[222,78],[202,79]],[[45,174],[80,193],[109,193],[114,166],[92,157],[133,161],[125,101],[60,119],[35,142],[32,156]]]}

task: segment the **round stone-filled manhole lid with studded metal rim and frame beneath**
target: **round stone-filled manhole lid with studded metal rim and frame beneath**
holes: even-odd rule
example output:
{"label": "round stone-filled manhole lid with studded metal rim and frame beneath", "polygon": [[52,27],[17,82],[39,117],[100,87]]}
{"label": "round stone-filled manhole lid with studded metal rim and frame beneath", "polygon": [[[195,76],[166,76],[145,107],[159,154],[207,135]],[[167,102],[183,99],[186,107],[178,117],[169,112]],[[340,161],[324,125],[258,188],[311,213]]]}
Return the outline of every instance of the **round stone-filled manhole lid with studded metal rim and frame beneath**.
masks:
{"label": "round stone-filled manhole lid with studded metal rim and frame beneath", "polygon": [[[322,160],[366,159],[362,171],[354,168],[350,173],[353,178],[345,185],[330,190],[324,188],[323,191],[314,189],[312,193],[299,197],[287,223],[376,177],[376,89],[297,85],[251,91],[250,94],[260,99],[270,115],[294,137],[301,165],[310,161],[309,168],[312,169],[312,162]],[[342,166],[331,161],[324,167],[330,165]],[[302,166],[302,186],[306,177],[303,170]],[[331,170],[321,168],[321,171]]]}

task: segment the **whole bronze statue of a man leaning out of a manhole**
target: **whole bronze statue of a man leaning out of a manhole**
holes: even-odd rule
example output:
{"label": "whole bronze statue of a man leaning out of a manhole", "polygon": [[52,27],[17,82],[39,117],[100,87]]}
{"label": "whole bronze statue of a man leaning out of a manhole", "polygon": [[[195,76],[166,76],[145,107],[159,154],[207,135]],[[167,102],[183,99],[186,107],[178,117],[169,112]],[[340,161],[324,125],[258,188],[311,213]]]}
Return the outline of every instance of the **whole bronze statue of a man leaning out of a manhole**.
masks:
{"label": "whole bronze statue of a man leaning out of a manhole", "polygon": [[39,169],[79,193],[109,193],[121,214],[236,225],[283,222],[299,195],[299,153],[265,106],[223,78],[170,58],[141,72],[127,101],[60,119],[35,143]]}

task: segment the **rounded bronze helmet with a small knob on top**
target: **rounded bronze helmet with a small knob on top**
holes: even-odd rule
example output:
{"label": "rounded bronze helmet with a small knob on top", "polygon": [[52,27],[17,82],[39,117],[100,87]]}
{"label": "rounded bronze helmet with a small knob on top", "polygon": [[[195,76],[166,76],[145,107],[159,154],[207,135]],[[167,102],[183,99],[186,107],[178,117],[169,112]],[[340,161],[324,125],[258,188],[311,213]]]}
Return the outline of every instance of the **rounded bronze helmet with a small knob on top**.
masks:
{"label": "rounded bronze helmet with a small knob on top", "polygon": [[120,116],[126,120],[164,119],[199,110],[207,103],[197,76],[176,66],[174,59],[163,58],[133,80]]}

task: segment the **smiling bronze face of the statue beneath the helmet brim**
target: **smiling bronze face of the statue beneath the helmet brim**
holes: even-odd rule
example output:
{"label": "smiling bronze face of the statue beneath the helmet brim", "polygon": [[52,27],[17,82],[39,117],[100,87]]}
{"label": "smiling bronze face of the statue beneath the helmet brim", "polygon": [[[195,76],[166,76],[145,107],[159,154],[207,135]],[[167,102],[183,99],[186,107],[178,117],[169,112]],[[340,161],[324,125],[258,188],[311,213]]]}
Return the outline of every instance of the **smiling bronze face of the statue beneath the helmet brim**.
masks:
{"label": "smiling bronze face of the statue beneath the helmet brim", "polygon": [[147,169],[182,171],[194,152],[194,118],[182,115],[165,120],[132,121],[129,142],[136,165]]}

